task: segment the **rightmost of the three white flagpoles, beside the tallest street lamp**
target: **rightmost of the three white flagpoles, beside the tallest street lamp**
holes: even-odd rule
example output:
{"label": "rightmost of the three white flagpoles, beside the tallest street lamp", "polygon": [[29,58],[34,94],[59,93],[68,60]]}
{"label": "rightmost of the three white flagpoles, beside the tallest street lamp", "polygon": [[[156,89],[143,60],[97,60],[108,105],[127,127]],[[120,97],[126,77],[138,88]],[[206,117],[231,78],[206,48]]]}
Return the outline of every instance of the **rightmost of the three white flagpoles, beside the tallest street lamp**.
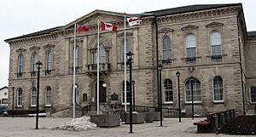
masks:
{"label": "rightmost of the three white flagpoles, beside the tallest street lamp", "polygon": [[[126,29],[125,19],[124,19],[124,26]],[[127,98],[127,95],[126,95],[126,93],[127,93],[127,88],[126,88],[126,85],[127,85],[127,83],[126,83],[126,31],[125,31],[125,42],[124,42],[124,63],[125,63],[125,80],[124,80],[125,81],[125,111],[127,111],[127,105],[126,105],[126,102],[127,102],[127,100],[126,100],[126,98]]]}

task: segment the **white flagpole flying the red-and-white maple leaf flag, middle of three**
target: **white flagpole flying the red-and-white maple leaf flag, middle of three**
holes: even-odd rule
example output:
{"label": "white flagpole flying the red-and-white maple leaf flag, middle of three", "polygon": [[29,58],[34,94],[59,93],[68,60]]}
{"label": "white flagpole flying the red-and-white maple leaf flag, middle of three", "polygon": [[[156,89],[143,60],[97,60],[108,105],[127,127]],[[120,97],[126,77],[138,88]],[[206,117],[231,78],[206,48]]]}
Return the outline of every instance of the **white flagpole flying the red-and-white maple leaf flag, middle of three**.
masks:
{"label": "white flagpole flying the red-and-white maple leaf flag, middle of three", "polygon": [[98,44],[97,44],[97,115],[100,114],[100,99],[99,99],[99,89],[100,89],[100,20],[98,16]]}

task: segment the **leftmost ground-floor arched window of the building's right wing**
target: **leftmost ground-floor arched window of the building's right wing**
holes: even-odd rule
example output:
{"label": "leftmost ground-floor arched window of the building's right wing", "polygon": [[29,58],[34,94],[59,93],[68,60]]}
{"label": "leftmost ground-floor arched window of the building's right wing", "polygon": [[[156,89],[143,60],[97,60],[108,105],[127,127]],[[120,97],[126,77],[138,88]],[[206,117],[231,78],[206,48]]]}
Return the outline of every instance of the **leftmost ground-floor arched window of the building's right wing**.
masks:
{"label": "leftmost ground-floor arched window of the building's right wing", "polygon": [[165,102],[173,102],[172,80],[165,80]]}

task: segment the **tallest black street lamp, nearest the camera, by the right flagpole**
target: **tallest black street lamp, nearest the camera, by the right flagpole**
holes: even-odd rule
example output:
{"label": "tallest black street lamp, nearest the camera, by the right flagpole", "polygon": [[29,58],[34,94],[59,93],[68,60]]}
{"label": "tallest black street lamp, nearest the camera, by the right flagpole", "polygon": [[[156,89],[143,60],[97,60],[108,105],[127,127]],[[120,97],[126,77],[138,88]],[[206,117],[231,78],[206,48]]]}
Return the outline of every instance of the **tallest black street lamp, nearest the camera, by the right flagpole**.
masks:
{"label": "tallest black street lamp, nearest the camera, by the right flagpole", "polygon": [[132,100],[131,100],[132,66],[131,65],[132,65],[133,55],[134,54],[132,54],[131,51],[126,54],[126,57],[130,66],[130,133],[132,133]]}

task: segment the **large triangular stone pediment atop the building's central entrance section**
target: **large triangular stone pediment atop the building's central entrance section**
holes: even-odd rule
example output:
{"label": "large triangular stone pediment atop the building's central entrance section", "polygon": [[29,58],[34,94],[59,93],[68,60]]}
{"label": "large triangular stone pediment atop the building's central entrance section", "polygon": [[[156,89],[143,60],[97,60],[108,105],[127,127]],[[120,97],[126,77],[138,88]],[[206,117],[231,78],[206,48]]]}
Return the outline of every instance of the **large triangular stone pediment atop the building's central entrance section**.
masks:
{"label": "large triangular stone pediment atop the building's central entrance section", "polygon": [[78,26],[95,27],[98,19],[104,22],[117,22],[124,20],[124,14],[96,9],[90,14],[85,14],[78,20],[67,24],[67,26],[63,26],[63,29],[73,28],[75,22]]}

